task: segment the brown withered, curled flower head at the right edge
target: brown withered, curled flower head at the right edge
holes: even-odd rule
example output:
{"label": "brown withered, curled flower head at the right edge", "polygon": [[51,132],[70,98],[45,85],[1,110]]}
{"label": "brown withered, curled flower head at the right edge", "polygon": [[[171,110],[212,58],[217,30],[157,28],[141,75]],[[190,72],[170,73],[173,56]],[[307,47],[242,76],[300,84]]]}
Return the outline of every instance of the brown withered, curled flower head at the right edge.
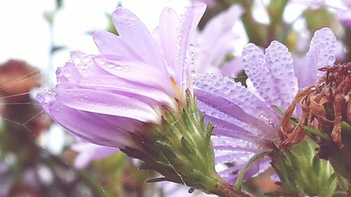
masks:
{"label": "brown withered, curled flower head at the right edge", "polygon": [[[281,128],[284,137],[282,146],[291,146],[300,142],[305,136],[302,126],[307,125],[329,135],[339,149],[344,147],[341,122],[351,122],[351,62],[334,64],[333,67],[320,70],[326,74],[317,81],[315,86],[310,86],[298,93],[286,110]],[[303,114],[298,124],[291,130],[291,116],[298,102],[301,104]],[[312,137],[320,145],[325,145],[319,137]]]}

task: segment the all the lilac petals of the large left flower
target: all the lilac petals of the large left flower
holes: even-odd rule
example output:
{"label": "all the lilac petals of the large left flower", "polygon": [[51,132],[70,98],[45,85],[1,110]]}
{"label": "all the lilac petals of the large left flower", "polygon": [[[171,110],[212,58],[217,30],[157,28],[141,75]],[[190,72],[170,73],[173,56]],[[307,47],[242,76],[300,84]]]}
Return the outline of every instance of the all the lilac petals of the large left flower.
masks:
{"label": "all the lilac petals of the large left flower", "polygon": [[180,23],[170,8],[161,14],[157,45],[143,22],[125,8],[112,15],[119,36],[98,31],[100,55],[79,51],[56,71],[55,92],[37,100],[73,135],[110,147],[133,147],[130,133],[143,134],[143,123],[160,123],[161,107],[178,110],[192,90],[189,64],[194,29],[206,6],[190,6]]}

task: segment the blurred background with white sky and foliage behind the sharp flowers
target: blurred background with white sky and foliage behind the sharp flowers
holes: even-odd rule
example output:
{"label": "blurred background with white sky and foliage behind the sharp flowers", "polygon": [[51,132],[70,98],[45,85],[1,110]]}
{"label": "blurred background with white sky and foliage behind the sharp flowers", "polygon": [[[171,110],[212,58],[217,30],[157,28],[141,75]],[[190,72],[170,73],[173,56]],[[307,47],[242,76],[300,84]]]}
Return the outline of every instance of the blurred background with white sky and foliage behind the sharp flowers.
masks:
{"label": "blurred background with white sky and foliage behind the sharp flowers", "polygon": [[[351,1],[288,0],[46,0],[0,1],[0,197],[1,196],[209,196],[183,186],[147,184],[154,172],[114,148],[74,139],[34,101],[55,86],[55,70],[73,50],[98,54],[91,34],[116,32],[117,6],[133,11],[150,29],[165,7],[178,14],[192,3],[208,8],[194,40],[194,69],[217,72],[246,85],[241,52],[246,43],[288,46],[298,64],[313,32],[329,27],[338,40],[336,62],[350,62]],[[246,182],[263,196],[279,189],[274,172]]]}

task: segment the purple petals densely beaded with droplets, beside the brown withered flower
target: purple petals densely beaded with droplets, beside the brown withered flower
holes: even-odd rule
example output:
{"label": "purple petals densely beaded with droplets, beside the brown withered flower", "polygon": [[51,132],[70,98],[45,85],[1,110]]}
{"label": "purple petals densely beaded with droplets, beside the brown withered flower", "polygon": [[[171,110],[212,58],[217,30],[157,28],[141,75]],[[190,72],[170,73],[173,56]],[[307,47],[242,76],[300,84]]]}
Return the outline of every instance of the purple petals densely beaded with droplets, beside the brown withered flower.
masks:
{"label": "purple petals densely beaded with droplets, beside the brown withered flower", "polygon": [[[237,175],[233,171],[240,170],[254,154],[271,149],[272,143],[279,144],[282,117],[274,106],[289,107],[298,89],[314,84],[322,75],[317,69],[333,64],[335,54],[336,37],[323,28],[314,33],[302,64],[293,64],[286,46],[277,41],[272,41],[265,53],[249,43],[242,58],[252,87],[216,74],[194,77],[199,110],[215,126],[212,140],[216,162],[234,164],[220,175],[234,182]],[[265,170],[269,161],[263,158],[246,175]]]}

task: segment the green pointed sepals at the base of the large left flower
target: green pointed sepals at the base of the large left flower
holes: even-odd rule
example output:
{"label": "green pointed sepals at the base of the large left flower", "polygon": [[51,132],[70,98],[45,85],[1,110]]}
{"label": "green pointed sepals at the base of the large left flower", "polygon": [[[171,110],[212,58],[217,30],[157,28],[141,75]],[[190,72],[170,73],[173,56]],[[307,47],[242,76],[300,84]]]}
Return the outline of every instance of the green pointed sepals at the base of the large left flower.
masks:
{"label": "green pointed sepals at the base of the large left flower", "polygon": [[213,126],[205,123],[195,97],[188,91],[186,102],[178,110],[164,107],[161,123],[145,123],[147,135],[131,134],[135,147],[124,147],[121,151],[144,161],[140,169],[155,170],[162,175],[148,182],[166,180],[217,194],[223,194],[220,189],[218,192],[220,186],[234,191],[215,170]]}

